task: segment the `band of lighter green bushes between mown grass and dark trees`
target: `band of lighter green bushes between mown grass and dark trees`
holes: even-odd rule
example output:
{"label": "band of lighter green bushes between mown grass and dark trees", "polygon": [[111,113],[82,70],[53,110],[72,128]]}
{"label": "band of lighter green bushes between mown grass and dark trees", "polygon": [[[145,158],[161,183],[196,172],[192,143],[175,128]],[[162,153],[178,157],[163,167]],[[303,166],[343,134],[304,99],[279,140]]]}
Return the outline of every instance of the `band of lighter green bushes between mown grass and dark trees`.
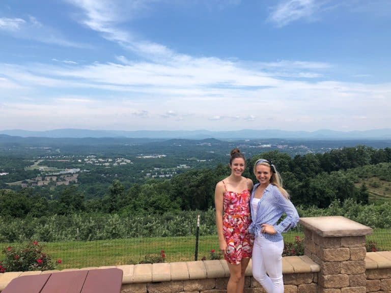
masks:
{"label": "band of lighter green bushes between mown grass and dark trees", "polygon": [[[362,205],[348,198],[334,200],[326,209],[296,206],[300,217],[344,216],[372,228],[391,228],[391,202]],[[215,212],[167,212],[163,215],[78,213],[24,219],[0,216],[0,243],[93,241],[143,237],[194,236],[197,215],[200,236],[216,235]]]}

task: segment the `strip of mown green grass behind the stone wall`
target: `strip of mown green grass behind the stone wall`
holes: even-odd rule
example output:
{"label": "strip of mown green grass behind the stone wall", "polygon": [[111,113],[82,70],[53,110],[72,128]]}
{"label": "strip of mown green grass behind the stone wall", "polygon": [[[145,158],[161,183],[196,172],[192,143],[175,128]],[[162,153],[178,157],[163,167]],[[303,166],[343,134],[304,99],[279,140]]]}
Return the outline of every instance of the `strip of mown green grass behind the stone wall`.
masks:
{"label": "strip of mown green grass behind the stone wall", "polygon": [[[367,240],[373,240],[381,250],[391,250],[389,229],[376,229]],[[294,242],[295,236],[303,238],[302,232],[284,233],[285,242]],[[52,259],[62,260],[60,269],[99,267],[110,265],[128,265],[145,258],[146,255],[158,256],[165,252],[165,261],[194,260],[195,237],[159,237],[134,238],[100,241],[70,241],[40,243],[43,251]],[[8,243],[0,243],[0,248],[8,247]],[[201,236],[198,247],[198,259],[209,258],[210,251],[218,251],[217,236]],[[0,255],[2,258],[3,255]]]}

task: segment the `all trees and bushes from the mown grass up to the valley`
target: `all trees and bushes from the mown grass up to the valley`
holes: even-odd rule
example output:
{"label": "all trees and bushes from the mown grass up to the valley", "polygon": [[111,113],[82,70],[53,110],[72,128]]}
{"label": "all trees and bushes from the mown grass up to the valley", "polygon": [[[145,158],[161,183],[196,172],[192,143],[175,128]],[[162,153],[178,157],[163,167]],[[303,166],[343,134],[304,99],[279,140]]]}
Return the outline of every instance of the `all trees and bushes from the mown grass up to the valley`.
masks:
{"label": "all trees and bushes from the mown grass up to the valley", "polygon": [[[363,145],[323,154],[289,156],[273,150],[247,159],[245,177],[259,158],[272,160],[303,216],[345,215],[371,227],[391,227],[391,149]],[[0,190],[0,242],[101,240],[212,235],[214,188],[228,164],[193,168],[171,179],[149,179],[130,187],[111,181],[104,195],[86,198],[77,186],[58,196],[33,188]]]}

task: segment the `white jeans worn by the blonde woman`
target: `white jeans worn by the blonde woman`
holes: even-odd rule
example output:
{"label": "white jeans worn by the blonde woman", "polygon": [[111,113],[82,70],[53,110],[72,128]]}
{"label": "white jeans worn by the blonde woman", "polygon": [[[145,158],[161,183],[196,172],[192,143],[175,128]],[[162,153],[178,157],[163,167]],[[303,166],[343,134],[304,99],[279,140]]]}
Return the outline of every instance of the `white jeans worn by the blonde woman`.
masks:
{"label": "white jeans worn by the blonde woman", "polygon": [[253,277],[267,293],[284,293],[283,250],[283,240],[271,242],[263,235],[255,239],[253,247]]}

